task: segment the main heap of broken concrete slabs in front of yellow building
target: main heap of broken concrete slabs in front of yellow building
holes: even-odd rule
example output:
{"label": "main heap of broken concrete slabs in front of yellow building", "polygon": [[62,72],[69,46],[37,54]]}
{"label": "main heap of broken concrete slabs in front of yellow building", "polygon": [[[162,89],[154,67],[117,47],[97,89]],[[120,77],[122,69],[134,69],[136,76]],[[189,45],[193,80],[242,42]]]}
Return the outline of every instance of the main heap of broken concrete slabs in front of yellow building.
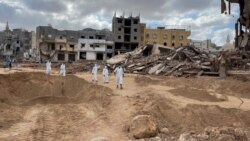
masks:
{"label": "main heap of broken concrete slabs in front of yellow building", "polygon": [[217,57],[195,47],[160,48],[159,54],[148,53],[148,46],[114,56],[110,67],[122,64],[128,73],[151,75],[218,75]]}

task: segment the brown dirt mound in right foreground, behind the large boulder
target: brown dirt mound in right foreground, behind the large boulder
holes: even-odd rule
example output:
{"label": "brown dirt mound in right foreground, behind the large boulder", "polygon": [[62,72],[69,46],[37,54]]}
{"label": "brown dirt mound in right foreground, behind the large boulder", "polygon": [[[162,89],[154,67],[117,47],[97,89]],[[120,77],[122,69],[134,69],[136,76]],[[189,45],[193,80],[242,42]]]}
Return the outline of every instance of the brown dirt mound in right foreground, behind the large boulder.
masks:
{"label": "brown dirt mound in right foreground, behind the large boulder", "polygon": [[141,106],[142,110],[137,114],[152,115],[159,129],[167,127],[173,136],[186,131],[198,132],[208,126],[233,126],[234,123],[241,123],[243,127],[250,126],[250,111],[203,105],[187,105],[179,109],[166,98],[154,96],[151,99],[151,102]]}

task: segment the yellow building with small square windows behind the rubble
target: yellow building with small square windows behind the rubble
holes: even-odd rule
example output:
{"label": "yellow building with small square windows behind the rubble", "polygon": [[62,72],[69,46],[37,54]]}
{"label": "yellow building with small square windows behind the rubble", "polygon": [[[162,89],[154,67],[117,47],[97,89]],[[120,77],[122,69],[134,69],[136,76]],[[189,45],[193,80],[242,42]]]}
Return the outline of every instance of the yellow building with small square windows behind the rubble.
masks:
{"label": "yellow building with small square windows behind the rubble", "polygon": [[191,31],[187,29],[166,29],[165,27],[158,27],[156,29],[146,28],[144,31],[144,43],[169,47],[188,46],[190,45],[190,35]]}

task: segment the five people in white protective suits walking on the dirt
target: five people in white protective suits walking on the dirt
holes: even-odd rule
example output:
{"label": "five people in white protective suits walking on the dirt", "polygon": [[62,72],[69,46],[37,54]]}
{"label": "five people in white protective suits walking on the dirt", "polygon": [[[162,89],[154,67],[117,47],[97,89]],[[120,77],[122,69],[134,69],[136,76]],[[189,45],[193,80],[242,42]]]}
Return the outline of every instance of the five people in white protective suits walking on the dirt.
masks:
{"label": "five people in white protective suits walking on the dirt", "polygon": [[[94,83],[97,83],[97,74],[98,74],[98,69],[100,68],[100,66],[98,66],[97,64],[94,65],[94,67],[92,68],[92,81]],[[45,73],[47,75],[50,75],[51,73],[51,62],[47,61],[46,63],[46,71]],[[115,76],[116,76],[116,87],[120,89],[123,89],[123,77],[124,77],[124,71],[123,68],[121,66],[117,66],[114,70]],[[60,71],[59,74],[61,76],[66,76],[66,67],[65,64],[62,63],[60,66]],[[108,84],[109,83],[109,69],[107,66],[103,67],[102,70],[102,75],[103,75],[103,83]]]}

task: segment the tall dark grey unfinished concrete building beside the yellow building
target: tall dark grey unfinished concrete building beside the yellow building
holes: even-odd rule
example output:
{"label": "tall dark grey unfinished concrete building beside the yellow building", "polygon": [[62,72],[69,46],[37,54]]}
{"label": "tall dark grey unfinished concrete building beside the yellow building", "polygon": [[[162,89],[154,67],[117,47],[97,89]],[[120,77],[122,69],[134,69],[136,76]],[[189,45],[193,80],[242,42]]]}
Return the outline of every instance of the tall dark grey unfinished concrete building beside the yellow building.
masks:
{"label": "tall dark grey unfinished concrete building beside the yellow building", "polygon": [[143,41],[145,24],[140,23],[140,16],[129,17],[116,14],[112,20],[112,32],[115,42],[115,54],[129,52],[139,47]]}

